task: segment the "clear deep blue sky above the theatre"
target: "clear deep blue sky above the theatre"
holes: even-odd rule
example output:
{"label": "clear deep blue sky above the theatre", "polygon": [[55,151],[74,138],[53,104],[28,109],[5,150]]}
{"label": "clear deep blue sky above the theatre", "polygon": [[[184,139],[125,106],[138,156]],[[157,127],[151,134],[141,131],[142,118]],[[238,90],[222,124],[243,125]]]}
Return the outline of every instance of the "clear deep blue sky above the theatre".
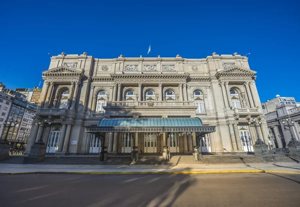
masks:
{"label": "clear deep blue sky above the theatre", "polygon": [[0,5],[0,81],[33,87],[48,53],[96,58],[244,55],[257,71],[260,100],[300,101],[298,0],[11,0]]}

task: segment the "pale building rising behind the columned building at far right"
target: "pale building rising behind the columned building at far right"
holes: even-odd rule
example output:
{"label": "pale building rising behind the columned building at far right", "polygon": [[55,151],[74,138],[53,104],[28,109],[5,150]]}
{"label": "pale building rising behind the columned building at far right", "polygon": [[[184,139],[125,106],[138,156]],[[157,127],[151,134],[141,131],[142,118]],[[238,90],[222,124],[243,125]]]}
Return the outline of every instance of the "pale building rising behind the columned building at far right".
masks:
{"label": "pale building rising behind the columned building at far right", "polygon": [[294,97],[281,97],[279,95],[276,95],[276,98],[273,98],[271,100],[267,100],[264,103],[261,103],[261,107],[263,110],[263,113],[269,113],[269,112],[273,112],[276,111],[276,107],[277,106],[281,106],[281,105],[293,105],[294,107],[296,107],[296,101]]}

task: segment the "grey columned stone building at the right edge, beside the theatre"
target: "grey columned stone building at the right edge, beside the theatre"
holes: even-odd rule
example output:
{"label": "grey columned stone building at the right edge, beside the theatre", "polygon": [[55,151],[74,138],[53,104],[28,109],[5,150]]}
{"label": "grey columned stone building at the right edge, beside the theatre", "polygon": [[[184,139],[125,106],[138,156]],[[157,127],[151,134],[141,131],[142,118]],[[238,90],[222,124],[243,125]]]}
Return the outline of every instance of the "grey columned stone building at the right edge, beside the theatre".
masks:
{"label": "grey columned stone building at the right edge, beside the theatre", "polygon": [[300,107],[295,107],[293,104],[282,104],[276,107],[276,111],[265,114],[265,118],[270,134],[273,135],[274,148],[286,147],[291,139],[290,131],[284,130],[281,123],[285,119],[294,121],[291,133],[296,140],[300,141]]}

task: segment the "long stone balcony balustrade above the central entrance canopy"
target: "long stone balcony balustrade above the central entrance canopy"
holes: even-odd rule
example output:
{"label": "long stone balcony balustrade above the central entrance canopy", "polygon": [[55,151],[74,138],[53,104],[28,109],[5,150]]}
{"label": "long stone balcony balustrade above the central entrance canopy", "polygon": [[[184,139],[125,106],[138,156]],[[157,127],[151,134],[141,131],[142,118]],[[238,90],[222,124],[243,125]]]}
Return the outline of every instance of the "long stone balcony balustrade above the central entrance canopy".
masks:
{"label": "long stone balcony balustrade above the central entrance canopy", "polygon": [[108,101],[107,106],[194,106],[193,101]]}

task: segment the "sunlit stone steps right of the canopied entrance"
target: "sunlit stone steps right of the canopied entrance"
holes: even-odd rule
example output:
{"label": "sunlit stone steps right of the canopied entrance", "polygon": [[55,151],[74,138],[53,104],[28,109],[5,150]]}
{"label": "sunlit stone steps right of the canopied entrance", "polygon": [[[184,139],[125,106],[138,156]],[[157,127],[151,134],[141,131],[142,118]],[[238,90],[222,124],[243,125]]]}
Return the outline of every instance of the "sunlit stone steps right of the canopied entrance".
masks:
{"label": "sunlit stone steps right of the canopied entrance", "polygon": [[203,155],[199,164],[254,164],[262,163],[254,155]]}

